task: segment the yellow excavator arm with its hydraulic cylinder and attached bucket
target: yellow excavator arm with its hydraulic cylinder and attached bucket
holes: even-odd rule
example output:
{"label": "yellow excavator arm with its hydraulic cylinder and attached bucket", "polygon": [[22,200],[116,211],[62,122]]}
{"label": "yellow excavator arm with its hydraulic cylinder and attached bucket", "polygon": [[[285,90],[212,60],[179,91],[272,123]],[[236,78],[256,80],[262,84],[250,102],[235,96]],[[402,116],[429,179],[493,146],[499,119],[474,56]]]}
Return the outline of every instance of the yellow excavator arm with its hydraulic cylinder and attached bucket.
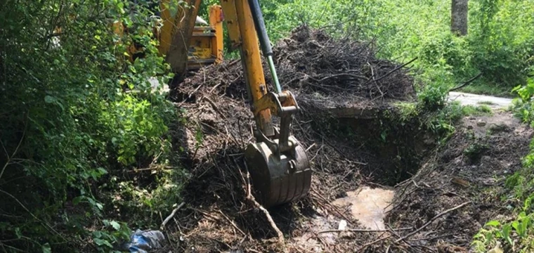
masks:
{"label": "yellow excavator arm with its hydraulic cylinder and attached bucket", "polygon": [[[306,151],[290,134],[292,117],[299,105],[291,92],[282,91],[278,82],[259,2],[221,0],[221,6],[232,47],[240,49],[249,104],[256,120],[256,143],[245,150],[256,198],[265,207],[298,200],[311,186]],[[271,86],[263,75],[259,44],[273,77]],[[280,117],[279,128],[274,126],[273,117]]]}

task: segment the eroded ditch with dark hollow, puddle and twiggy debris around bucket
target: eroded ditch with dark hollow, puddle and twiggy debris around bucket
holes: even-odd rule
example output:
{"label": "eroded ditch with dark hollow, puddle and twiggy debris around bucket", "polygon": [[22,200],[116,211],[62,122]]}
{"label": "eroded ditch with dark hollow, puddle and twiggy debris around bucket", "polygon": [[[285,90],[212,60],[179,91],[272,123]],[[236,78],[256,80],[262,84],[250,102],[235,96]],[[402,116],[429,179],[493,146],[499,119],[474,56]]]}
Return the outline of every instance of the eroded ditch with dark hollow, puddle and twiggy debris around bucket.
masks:
{"label": "eroded ditch with dark hollow, puddle and twiggy debris around bucket", "polygon": [[[188,122],[196,120],[202,127],[185,126],[180,131],[189,136],[182,138],[182,144],[188,147],[185,157],[193,174],[185,188],[185,200],[192,207],[184,214],[187,219],[178,222],[190,235],[179,243],[185,251],[190,248],[184,245],[195,245],[200,252],[280,251],[278,243],[265,241],[276,238],[271,224],[245,199],[248,181],[242,147],[251,135],[240,126],[252,121],[239,103],[197,101],[190,108],[195,118]],[[384,218],[393,207],[392,186],[415,174],[426,150],[434,146],[433,137],[419,128],[417,120],[397,126],[393,107],[360,109],[358,115],[347,117],[348,108],[343,115],[337,115],[339,108],[315,108],[313,116],[295,119],[294,134],[308,149],[314,173],[308,197],[269,210],[287,238],[286,249],[328,252],[337,245],[336,250],[344,252],[375,240],[375,233],[329,231],[338,229],[340,222],[346,222],[348,229],[388,229]],[[205,129],[202,146],[192,140],[195,129]],[[217,146],[221,148],[211,148]]]}

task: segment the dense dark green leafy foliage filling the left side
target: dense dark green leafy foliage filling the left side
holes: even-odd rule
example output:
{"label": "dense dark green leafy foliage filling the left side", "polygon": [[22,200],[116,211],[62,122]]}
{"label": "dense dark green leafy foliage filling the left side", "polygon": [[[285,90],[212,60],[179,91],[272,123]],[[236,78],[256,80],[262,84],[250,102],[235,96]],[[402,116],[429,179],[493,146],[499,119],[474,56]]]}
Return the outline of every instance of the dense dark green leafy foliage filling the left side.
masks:
{"label": "dense dark green leafy foliage filling the left side", "polygon": [[[141,185],[134,168],[169,160],[165,135],[176,114],[148,82],[169,79],[150,20],[122,0],[0,5],[0,247],[64,252],[92,241],[109,249],[129,233],[109,216],[124,206],[112,193]],[[114,34],[115,21],[129,34]],[[146,57],[131,63],[133,40]],[[138,191],[133,208],[151,210],[158,196],[176,202],[169,177],[152,177],[155,190]]]}

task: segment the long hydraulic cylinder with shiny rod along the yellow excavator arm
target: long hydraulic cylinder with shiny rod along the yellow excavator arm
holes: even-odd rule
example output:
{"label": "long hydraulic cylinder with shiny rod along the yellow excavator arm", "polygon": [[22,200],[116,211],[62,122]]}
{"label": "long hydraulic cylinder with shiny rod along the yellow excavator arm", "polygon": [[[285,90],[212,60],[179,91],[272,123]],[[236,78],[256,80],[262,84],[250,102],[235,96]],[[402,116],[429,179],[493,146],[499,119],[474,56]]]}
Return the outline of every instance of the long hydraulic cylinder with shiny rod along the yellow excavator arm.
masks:
{"label": "long hydraulic cylinder with shiny rod along the yellow excavator arm", "polygon": [[278,81],[278,75],[276,74],[275,63],[273,61],[273,48],[271,48],[271,41],[269,41],[269,37],[267,35],[265,21],[263,20],[263,14],[261,13],[259,2],[258,0],[248,1],[250,11],[252,12],[252,19],[254,20],[254,27],[256,27],[256,32],[258,34],[261,51],[263,52],[263,55],[267,58],[267,64],[269,65],[271,76],[273,77],[273,83],[275,85],[276,92],[281,93],[282,88],[280,87],[280,81]]}

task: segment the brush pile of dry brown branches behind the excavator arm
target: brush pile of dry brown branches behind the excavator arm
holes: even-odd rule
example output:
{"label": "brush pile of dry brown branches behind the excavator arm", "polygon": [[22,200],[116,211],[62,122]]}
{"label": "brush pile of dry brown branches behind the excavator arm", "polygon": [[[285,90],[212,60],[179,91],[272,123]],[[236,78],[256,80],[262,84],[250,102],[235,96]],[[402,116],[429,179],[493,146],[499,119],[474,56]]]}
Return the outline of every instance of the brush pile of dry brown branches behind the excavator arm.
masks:
{"label": "brush pile of dry brown branches behind the excavator arm", "polygon": [[[273,58],[282,88],[296,94],[343,97],[351,103],[407,100],[415,94],[413,78],[403,68],[413,60],[399,65],[378,59],[372,41],[334,39],[322,30],[301,26],[276,44]],[[263,63],[263,67],[266,82],[271,84],[268,65]],[[242,74],[237,60],[213,65],[186,80],[180,89],[203,83],[221,86],[229,96],[240,98],[247,92]]]}

